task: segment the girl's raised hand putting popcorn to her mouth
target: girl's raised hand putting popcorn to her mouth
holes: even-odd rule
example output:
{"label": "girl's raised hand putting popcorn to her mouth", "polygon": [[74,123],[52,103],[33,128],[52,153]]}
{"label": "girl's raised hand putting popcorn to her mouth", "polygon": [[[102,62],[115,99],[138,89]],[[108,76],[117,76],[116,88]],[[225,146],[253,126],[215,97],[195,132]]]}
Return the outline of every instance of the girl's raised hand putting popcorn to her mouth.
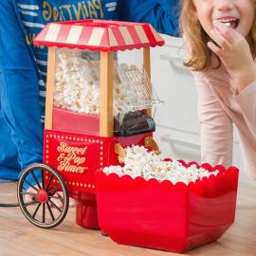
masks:
{"label": "girl's raised hand putting popcorn to her mouth", "polygon": [[220,58],[238,84],[241,92],[256,80],[256,66],[253,63],[247,40],[237,31],[219,21],[213,22],[210,37],[217,44],[208,43],[210,49]]}

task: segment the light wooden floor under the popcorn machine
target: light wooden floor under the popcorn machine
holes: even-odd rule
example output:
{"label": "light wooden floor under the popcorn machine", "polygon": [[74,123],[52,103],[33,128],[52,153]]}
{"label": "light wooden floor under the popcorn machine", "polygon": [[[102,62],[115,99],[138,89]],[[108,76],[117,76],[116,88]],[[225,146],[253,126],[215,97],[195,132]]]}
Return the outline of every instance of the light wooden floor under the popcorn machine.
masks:
{"label": "light wooden floor under the popcorn machine", "polygon": [[[14,184],[0,184],[0,202],[15,201]],[[27,222],[19,208],[0,208],[0,256],[161,256],[177,255],[153,249],[119,246],[100,231],[75,224],[75,209],[69,209],[56,229],[39,229]],[[256,186],[240,185],[235,224],[218,242],[198,247],[185,255],[255,256]]]}

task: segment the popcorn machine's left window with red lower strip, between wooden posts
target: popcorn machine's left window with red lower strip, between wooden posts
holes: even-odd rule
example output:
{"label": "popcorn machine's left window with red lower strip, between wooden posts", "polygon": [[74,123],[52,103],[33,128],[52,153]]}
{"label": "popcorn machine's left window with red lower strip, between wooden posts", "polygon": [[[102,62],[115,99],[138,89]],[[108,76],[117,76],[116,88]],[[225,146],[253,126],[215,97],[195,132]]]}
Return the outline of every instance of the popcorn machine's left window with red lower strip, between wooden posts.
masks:
{"label": "popcorn machine's left window with red lower strip, between wooden posts", "polygon": [[53,130],[99,136],[100,52],[58,48]]}

